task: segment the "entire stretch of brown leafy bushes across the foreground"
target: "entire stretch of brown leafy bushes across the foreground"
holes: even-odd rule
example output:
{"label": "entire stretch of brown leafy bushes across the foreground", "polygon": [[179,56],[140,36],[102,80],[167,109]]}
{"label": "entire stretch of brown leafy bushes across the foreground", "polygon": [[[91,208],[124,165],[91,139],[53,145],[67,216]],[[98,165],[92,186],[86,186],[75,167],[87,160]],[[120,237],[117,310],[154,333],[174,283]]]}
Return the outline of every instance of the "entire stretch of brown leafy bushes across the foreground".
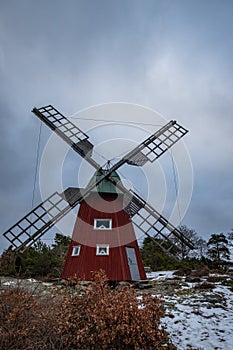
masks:
{"label": "entire stretch of brown leafy bushes across the foreground", "polygon": [[38,298],[16,288],[0,296],[0,349],[175,349],[163,315],[161,299],[112,289],[102,272],[83,294]]}

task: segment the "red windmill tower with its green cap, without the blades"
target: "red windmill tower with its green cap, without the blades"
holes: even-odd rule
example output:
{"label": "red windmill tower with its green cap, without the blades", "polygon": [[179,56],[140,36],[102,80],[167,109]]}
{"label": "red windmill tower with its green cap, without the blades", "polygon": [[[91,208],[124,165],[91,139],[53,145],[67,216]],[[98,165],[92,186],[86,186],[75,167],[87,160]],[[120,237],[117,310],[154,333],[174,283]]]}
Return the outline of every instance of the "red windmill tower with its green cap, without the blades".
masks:
{"label": "red windmill tower with its green cap, without the blades", "polygon": [[[120,180],[116,173],[113,177]],[[93,272],[100,269],[110,281],[146,278],[123,193],[107,180],[80,204],[62,277],[92,280]]]}

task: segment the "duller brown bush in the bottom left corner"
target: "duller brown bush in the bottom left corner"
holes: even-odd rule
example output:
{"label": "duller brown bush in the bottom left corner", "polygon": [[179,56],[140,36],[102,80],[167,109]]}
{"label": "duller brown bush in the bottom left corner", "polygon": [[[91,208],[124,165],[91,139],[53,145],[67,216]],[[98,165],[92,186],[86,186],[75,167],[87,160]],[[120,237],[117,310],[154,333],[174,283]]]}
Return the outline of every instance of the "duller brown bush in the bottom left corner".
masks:
{"label": "duller brown bush in the bottom left corner", "polygon": [[38,299],[17,287],[0,296],[0,349],[59,349],[53,332],[56,304],[47,297]]}

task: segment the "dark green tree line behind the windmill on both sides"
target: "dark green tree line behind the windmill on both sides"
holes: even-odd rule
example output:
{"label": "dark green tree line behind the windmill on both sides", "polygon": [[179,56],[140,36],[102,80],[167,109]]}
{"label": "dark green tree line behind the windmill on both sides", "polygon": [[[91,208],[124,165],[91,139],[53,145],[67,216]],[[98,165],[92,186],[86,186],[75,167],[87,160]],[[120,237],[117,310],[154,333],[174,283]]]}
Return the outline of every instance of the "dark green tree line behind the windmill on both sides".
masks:
{"label": "dark green tree line behind the windmill on both sides", "polygon": [[[183,246],[178,252],[176,248],[169,246],[169,242],[165,242],[167,245],[165,248],[171,248],[171,253],[175,255],[179,253],[181,259],[178,261],[166,255],[149,237],[146,237],[140,248],[144,266],[157,271],[181,267],[194,269],[200,264],[219,269],[229,264],[233,230],[226,235],[212,234],[210,239],[205,241],[195,230],[185,225],[180,226],[179,229],[194,243],[195,249],[189,251],[186,246]],[[70,240],[70,237],[57,233],[51,246],[39,240],[21,254],[15,253],[10,247],[0,257],[0,274],[59,278]],[[158,243],[161,243],[160,239]]]}

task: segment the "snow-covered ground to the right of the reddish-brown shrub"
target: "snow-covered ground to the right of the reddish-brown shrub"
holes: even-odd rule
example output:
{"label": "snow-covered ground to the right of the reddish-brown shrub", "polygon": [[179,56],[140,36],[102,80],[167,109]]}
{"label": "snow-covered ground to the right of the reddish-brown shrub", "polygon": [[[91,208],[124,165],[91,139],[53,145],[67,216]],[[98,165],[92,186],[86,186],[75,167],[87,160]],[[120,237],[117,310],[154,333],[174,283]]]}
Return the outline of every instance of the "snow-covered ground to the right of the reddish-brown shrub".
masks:
{"label": "snow-covered ground to the right of the reddish-brown shrub", "polygon": [[[172,276],[171,271],[148,274],[157,283]],[[213,290],[193,287],[185,283],[173,295],[164,295],[163,322],[174,345],[179,350],[232,350],[233,293],[221,283],[215,283]]]}

